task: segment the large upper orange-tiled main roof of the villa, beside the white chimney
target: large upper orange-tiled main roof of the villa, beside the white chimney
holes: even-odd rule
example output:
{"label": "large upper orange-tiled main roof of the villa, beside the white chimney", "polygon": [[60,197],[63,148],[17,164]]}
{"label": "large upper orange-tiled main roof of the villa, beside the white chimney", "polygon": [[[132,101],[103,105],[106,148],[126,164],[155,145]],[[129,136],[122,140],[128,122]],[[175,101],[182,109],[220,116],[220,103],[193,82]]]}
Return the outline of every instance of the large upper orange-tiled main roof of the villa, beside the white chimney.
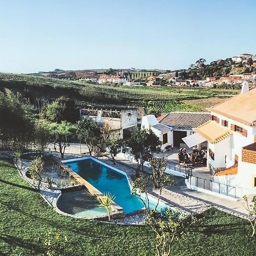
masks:
{"label": "large upper orange-tiled main roof of the villa, beside the white chimney", "polygon": [[256,88],[247,93],[238,94],[228,100],[209,108],[208,110],[224,115],[230,119],[244,123],[245,125],[256,125]]}

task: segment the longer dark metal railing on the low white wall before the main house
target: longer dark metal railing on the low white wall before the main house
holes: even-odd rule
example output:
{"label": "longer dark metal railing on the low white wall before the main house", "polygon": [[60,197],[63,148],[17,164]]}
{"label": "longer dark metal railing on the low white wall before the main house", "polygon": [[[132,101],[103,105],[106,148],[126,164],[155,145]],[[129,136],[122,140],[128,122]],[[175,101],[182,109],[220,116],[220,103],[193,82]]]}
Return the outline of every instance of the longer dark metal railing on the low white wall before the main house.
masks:
{"label": "longer dark metal railing on the low white wall before the main house", "polygon": [[[192,184],[192,179],[195,180],[195,184]],[[197,188],[203,188],[211,192],[219,193],[220,195],[234,197],[235,199],[237,198],[236,187],[231,185],[226,185],[213,180],[203,179],[201,177],[192,175],[189,177],[189,184],[194,185]]]}

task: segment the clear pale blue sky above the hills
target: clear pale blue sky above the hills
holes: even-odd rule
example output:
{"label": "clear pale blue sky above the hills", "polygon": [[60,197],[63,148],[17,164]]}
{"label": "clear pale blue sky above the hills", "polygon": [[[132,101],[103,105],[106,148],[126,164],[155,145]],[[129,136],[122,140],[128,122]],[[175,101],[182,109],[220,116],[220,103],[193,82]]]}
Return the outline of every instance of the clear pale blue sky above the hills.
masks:
{"label": "clear pale blue sky above the hills", "polygon": [[0,72],[187,68],[256,53],[255,0],[2,0]]}

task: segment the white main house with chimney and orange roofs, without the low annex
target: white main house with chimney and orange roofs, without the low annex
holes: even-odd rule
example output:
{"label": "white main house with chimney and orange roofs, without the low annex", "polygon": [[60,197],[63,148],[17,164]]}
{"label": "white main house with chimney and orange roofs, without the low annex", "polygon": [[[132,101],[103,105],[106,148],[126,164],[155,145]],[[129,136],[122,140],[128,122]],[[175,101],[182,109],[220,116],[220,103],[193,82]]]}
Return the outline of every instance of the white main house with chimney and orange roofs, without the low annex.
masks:
{"label": "white main house with chimney and orange roofs, without the low annex", "polygon": [[214,181],[235,187],[240,196],[256,193],[256,89],[243,82],[241,94],[209,110],[210,121],[194,129],[193,139],[208,142]]}

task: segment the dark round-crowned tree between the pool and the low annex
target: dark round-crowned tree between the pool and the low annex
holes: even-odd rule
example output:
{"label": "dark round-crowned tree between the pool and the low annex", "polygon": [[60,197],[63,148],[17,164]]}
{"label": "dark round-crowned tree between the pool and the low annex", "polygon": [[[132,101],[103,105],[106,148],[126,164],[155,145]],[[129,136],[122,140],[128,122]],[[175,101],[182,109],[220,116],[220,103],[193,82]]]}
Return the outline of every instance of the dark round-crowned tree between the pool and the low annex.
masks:
{"label": "dark round-crowned tree between the pool and the low annex", "polygon": [[145,161],[149,161],[155,153],[160,152],[162,142],[151,129],[138,129],[135,133],[131,134],[131,138],[127,141],[127,146],[131,148],[131,153],[137,161],[136,176],[138,177],[139,171]]}

